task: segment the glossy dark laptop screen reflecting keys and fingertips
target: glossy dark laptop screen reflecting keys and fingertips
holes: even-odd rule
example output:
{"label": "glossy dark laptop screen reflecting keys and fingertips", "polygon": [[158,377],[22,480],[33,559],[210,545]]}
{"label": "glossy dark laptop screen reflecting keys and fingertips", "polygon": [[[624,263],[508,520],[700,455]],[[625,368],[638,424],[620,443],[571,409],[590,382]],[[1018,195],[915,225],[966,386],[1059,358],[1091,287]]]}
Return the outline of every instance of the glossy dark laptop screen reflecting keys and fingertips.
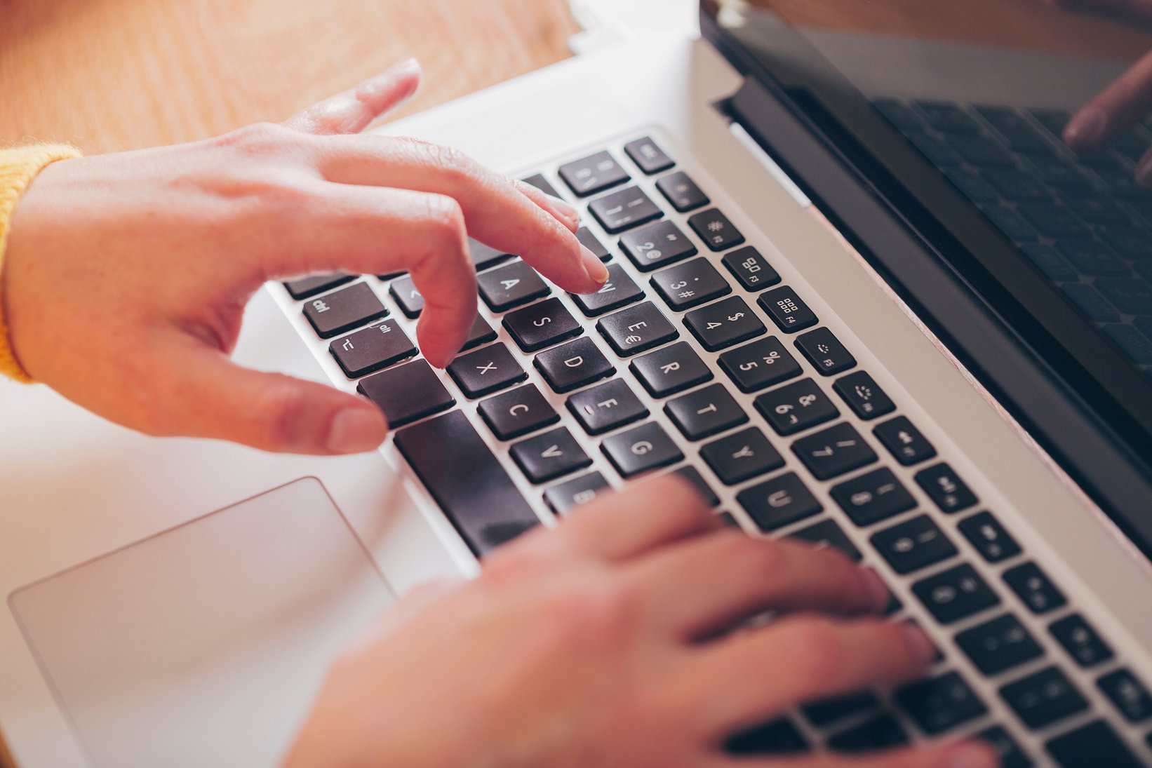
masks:
{"label": "glossy dark laptop screen reflecting keys and fingertips", "polygon": [[963,244],[953,266],[1149,444],[1152,0],[702,7],[844,157],[884,169],[914,228],[927,213]]}

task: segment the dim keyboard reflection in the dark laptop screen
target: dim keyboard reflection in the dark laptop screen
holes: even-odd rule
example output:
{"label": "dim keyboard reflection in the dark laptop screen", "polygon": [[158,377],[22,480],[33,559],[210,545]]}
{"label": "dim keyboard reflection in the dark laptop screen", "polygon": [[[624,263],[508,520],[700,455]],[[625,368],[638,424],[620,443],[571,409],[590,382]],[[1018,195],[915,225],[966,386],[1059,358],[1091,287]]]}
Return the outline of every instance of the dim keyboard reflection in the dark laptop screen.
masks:
{"label": "dim keyboard reflection in the dark laptop screen", "polygon": [[1152,189],[1135,181],[1146,127],[1079,157],[1059,109],[873,105],[1152,379]]}

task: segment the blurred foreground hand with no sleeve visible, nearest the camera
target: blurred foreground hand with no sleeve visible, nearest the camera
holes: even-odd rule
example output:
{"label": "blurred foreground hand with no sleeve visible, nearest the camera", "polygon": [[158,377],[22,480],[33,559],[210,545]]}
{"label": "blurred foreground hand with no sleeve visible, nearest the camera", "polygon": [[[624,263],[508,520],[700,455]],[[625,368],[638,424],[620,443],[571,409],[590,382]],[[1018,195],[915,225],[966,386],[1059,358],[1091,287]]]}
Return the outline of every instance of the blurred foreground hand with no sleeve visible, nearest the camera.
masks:
{"label": "blurred foreground hand with no sleeve visible, nearest the camera", "polygon": [[[933,656],[833,549],[721,529],[661,478],[418,590],[332,668],[288,768],[992,768],[982,744],[873,758],[727,755],[798,702],[895,684]],[[767,625],[732,632],[766,610]]]}

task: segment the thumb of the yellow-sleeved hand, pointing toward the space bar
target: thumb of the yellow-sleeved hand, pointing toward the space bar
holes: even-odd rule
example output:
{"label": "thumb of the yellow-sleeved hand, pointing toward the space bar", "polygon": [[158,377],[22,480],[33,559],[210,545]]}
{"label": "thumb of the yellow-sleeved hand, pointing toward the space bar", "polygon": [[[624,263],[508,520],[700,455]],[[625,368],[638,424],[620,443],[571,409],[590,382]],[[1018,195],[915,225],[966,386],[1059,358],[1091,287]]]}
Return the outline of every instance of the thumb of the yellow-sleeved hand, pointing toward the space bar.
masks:
{"label": "thumb of the yellow-sleeved hand, pointing toward the space bar", "polygon": [[[158,370],[180,382],[166,408],[166,432],[214,438],[286,454],[357,454],[388,431],[367,400],[333,387],[260,373],[222,352],[195,349]],[[180,405],[177,405],[180,403]]]}

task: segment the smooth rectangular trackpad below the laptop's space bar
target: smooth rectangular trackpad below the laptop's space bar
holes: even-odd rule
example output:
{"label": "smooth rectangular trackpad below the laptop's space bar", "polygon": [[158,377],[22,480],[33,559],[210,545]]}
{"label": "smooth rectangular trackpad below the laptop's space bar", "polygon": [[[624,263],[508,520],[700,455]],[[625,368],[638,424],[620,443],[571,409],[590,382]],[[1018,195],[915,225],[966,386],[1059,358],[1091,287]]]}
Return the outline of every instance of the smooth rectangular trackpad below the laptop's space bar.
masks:
{"label": "smooth rectangular trackpad below the laptop's space bar", "polygon": [[394,598],[305,478],[9,599],[96,766],[273,766]]}

